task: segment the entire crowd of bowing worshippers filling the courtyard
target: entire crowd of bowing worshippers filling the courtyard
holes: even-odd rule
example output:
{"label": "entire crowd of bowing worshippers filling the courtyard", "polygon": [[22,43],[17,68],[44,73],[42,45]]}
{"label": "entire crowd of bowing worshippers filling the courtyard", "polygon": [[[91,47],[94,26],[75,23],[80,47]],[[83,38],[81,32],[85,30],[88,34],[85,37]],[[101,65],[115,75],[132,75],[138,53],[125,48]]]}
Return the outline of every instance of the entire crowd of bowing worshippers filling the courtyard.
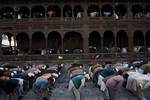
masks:
{"label": "entire crowd of bowing worshippers filling the courtyard", "polygon": [[150,87],[148,60],[95,63],[89,66],[73,63],[65,67],[63,64],[22,67],[3,64],[0,67],[0,94],[6,95],[8,100],[20,100],[32,90],[39,100],[48,100],[50,87],[54,86],[61,75],[62,68],[65,68],[69,75],[68,90],[73,92],[76,100],[82,100],[81,89],[86,88],[87,81],[92,81],[94,86],[103,91],[104,100],[115,100],[116,92],[120,88],[129,90],[139,100],[145,100],[142,90]]}

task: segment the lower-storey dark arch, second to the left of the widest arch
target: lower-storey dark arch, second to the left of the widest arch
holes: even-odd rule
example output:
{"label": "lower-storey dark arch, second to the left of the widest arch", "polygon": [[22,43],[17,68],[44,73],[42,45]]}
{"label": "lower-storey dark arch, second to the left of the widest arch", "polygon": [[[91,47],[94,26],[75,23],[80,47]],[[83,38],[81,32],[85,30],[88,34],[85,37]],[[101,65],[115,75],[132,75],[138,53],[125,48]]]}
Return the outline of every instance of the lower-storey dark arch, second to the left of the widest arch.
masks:
{"label": "lower-storey dark arch, second to the left of the widest arch", "polygon": [[42,32],[35,32],[32,35],[32,54],[41,54],[46,48],[46,40]]}

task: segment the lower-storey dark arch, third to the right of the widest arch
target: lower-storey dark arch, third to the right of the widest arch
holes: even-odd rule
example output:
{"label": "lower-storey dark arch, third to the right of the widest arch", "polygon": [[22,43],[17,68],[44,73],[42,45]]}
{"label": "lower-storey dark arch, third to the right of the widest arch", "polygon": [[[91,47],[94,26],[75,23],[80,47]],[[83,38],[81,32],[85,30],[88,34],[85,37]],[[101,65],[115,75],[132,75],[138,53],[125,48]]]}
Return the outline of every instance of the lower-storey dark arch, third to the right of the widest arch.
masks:
{"label": "lower-storey dark arch, third to the right of the widest arch", "polygon": [[128,36],[127,33],[123,30],[117,33],[116,37],[117,47],[127,48],[128,47]]}

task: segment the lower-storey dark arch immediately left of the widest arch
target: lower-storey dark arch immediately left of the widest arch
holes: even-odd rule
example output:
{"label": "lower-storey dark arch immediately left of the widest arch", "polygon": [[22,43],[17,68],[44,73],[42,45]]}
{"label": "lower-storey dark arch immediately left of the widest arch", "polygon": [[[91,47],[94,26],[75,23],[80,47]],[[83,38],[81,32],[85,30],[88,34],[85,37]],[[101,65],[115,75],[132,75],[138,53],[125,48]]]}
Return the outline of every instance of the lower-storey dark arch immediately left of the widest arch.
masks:
{"label": "lower-storey dark arch immediately left of the widest arch", "polygon": [[56,54],[60,53],[61,51],[61,36],[58,32],[51,32],[48,34],[47,39],[47,49],[48,53],[50,54]]}

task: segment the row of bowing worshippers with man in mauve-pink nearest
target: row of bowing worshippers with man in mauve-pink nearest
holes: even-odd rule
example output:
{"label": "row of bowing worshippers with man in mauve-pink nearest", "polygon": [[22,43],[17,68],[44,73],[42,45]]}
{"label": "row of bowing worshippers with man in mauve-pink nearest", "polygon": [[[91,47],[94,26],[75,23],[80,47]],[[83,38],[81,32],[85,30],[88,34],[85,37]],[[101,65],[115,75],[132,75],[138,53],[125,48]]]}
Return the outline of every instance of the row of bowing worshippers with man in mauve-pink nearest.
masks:
{"label": "row of bowing worshippers with man in mauve-pink nearest", "polygon": [[93,65],[89,68],[89,74],[93,83],[105,94],[104,100],[115,100],[118,88],[124,86],[128,75],[118,72],[112,66]]}

